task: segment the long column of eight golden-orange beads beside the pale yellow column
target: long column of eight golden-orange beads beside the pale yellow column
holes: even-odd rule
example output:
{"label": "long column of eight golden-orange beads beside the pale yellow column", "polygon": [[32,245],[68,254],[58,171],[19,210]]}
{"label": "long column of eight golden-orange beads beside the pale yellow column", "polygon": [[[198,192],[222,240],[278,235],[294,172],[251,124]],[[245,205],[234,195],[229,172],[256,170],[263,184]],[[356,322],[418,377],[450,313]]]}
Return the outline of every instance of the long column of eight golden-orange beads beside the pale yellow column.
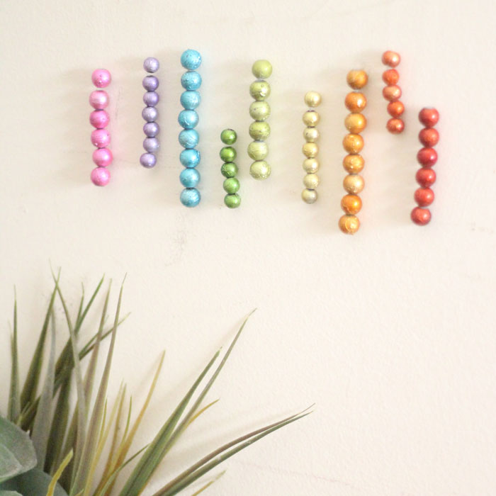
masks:
{"label": "long column of eight golden-orange beads beside the pale yellow column", "polygon": [[[352,89],[362,89],[367,84],[368,76],[365,71],[352,70],[346,76],[346,82]],[[359,172],[363,169],[363,158],[359,154],[363,149],[363,137],[360,133],[366,128],[367,120],[361,113],[366,106],[366,98],[358,91],[351,91],[346,95],[344,103],[351,111],[344,119],[344,125],[349,131],[344,137],[343,147],[348,153],[343,160],[344,169],[349,173],[343,181],[346,195],[341,201],[344,215],[339,219],[339,229],[347,235],[353,235],[359,230],[360,221],[356,214],[361,210],[361,198],[358,196],[363,190],[363,177]]]}

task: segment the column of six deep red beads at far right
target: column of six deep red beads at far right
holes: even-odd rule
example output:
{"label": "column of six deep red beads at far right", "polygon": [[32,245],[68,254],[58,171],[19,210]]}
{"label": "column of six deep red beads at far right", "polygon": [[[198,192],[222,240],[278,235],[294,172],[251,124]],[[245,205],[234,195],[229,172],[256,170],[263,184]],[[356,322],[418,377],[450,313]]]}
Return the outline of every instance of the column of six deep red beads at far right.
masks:
{"label": "column of six deep red beads at far right", "polygon": [[417,153],[417,160],[422,169],[417,171],[415,179],[420,188],[415,191],[415,201],[418,207],[412,210],[412,221],[417,225],[429,224],[431,212],[428,207],[434,201],[434,191],[431,186],[436,181],[436,173],[432,167],[437,162],[437,152],[434,146],[439,141],[439,133],[434,129],[439,120],[439,112],[435,108],[422,108],[419,112],[419,120],[425,126],[419,133],[419,140],[424,146]]}

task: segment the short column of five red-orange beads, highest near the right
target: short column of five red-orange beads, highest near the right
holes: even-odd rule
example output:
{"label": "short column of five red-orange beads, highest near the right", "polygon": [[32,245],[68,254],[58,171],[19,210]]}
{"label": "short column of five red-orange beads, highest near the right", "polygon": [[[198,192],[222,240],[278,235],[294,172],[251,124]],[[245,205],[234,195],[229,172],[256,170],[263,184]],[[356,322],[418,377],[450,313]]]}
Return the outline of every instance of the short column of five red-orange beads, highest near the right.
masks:
{"label": "short column of five red-orange beads, highest near the right", "polygon": [[383,96],[389,101],[388,113],[391,116],[385,127],[394,135],[402,133],[405,129],[405,123],[400,118],[402,113],[405,112],[405,106],[400,102],[401,88],[398,86],[400,74],[394,69],[400,64],[400,60],[400,54],[397,52],[387,50],[383,53],[383,64],[391,67],[391,69],[386,69],[383,72],[383,81],[387,84],[383,89]]}

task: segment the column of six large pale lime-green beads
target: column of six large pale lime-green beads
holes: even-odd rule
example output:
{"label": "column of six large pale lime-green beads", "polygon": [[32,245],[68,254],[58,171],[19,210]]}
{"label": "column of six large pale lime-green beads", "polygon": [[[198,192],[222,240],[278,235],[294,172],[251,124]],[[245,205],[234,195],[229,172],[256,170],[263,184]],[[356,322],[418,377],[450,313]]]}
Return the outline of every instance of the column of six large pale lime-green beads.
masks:
{"label": "column of six large pale lime-green beads", "polygon": [[266,119],[271,108],[265,100],[271,94],[271,86],[265,79],[272,74],[271,63],[268,60],[257,60],[252,66],[252,74],[257,78],[249,86],[249,94],[254,99],[249,106],[249,115],[254,119],[249,126],[249,135],[254,141],[248,146],[248,154],[255,162],[250,166],[249,173],[254,179],[267,179],[271,175],[271,166],[265,160],[269,154],[265,140],[271,134],[271,128]]}

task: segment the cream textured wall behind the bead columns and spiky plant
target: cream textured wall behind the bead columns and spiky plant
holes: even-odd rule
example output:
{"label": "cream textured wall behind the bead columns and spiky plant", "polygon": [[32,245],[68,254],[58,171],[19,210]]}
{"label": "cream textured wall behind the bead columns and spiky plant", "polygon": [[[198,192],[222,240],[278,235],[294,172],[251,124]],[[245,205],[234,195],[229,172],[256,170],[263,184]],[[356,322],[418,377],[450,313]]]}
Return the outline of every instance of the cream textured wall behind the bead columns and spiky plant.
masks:
{"label": "cream textured wall behind the bead columns and spiky plant", "polygon": [[[209,395],[221,401],[147,494],[221,441],[313,402],[310,417],[231,458],[208,494],[496,493],[494,2],[4,0],[0,18],[1,378],[14,284],[21,349],[30,354],[50,263],[62,266],[72,302],[81,280],[89,292],[103,272],[114,281],[127,273],[123,308],[132,314],[112,388],[125,380],[142,400],[167,349],[137,447],[258,308]],[[203,55],[203,199],[193,210],[179,203],[179,56],[187,47]],[[402,55],[400,136],[385,131],[386,49]],[[138,164],[147,56],[162,64],[162,147],[152,170]],[[257,58],[274,65],[273,172],[261,183],[249,176],[245,151]],[[106,188],[89,182],[96,67],[113,74]],[[337,228],[343,101],[346,72],[360,67],[370,75],[366,188],[361,230],[346,237]],[[300,200],[309,89],[323,98],[314,205]],[[421,228],[409,215],[422,106],[439,109],[441,140],[433,219]],[[218,150],[227,127],[239,133],[238,210],[222,203]],[[60,325],[59,345],[64,332]],[[22,366],[26,373],[26,358]],[[6,397],[1,388],[3,411]]]}

